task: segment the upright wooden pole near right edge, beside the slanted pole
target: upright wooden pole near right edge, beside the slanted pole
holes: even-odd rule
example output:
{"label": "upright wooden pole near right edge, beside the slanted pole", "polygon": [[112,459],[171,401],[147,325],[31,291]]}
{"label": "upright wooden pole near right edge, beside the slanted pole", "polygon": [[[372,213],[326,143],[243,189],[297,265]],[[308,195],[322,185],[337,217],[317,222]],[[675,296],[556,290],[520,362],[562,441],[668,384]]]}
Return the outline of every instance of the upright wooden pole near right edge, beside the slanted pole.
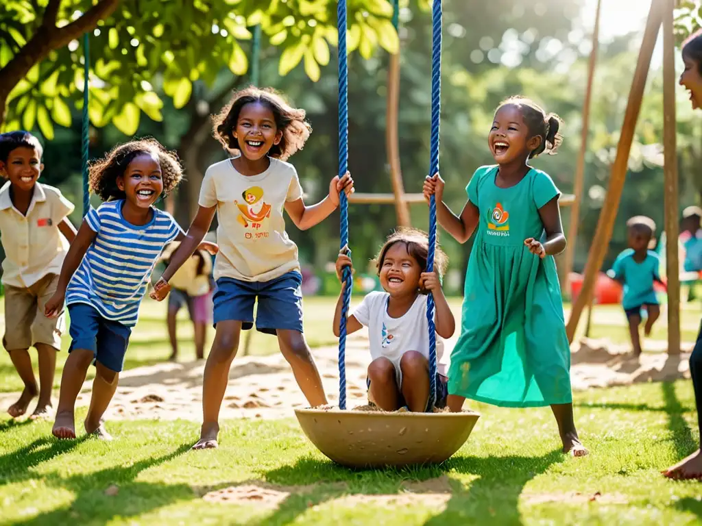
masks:
{"label": "upright wooden pole near right edge, beside the slanted pole", "polygon": [[666,274],[668,275],[668,354],[680,353],[680,267],[677,258],[678,181],[675,149],[675,0],[658,0],[663,13],[663,158],[665,164]]}

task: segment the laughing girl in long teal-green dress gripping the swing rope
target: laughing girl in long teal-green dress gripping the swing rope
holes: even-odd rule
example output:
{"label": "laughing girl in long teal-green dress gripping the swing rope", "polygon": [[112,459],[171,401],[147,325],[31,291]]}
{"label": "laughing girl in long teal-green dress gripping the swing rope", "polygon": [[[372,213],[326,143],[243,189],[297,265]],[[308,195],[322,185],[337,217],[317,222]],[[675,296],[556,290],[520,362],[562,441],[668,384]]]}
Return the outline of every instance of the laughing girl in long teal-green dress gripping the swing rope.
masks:
{"label": "laughing girl in long teal-green dress gripping the swing rope", "polygon": [[527,161],[562,142],[560,119],[524,97],[498,107],[488,136],[496,166],[478,168],[468,202],[454,215],[442,201],[444,180],[428,177],[437,219],[460,243],[475,232],[465,276],[461,337],[451,354],[449,400],[503,407],[550,405],[563,451],[587,450],[573,421],[570,349],[553,256],[566,245],[560,192]]}

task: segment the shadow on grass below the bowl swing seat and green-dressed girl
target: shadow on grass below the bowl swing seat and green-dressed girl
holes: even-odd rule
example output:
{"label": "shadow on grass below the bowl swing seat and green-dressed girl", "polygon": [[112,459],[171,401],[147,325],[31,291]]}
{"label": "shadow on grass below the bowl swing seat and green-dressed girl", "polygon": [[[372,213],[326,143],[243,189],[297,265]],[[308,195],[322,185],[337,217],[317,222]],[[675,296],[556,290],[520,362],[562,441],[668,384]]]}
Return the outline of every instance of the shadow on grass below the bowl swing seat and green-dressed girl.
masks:
{"label": "shadow on grass below the bowl swing seat and green-dressed girl", "polygon": [[522,520],[518,504],[524,486],[565,458],[557,450],[536,458],[454,457],[440,466],[351,471],[330,461],[307,457],[299,459],[293,466],[263,473],[270,483],[298,486],[300,491],[291,493],[276,511],[252,524],[289,524],[317,504],[352,495],[399,495],[406,491],[404,482],[429,480],[454,472],[477,478],[465,486],[456,480],[451,481],[451,497],[446,508],[425,524],[438,526],[489,522],[520,525]]}

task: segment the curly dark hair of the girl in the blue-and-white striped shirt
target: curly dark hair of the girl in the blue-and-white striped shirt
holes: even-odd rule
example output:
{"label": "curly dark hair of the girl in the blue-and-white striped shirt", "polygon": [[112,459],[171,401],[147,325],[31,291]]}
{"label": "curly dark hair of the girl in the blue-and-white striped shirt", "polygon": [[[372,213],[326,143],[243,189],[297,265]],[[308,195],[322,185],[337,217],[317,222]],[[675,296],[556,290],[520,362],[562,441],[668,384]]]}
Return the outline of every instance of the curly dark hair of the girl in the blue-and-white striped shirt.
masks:
{"label": "curly dark hair of the girl in the blue-and-white striped shirt", "polygon": [[162,196],[167,196],[183,179],[183,168],[175,151],[168,151],[155,139],[145,138],[118,144],[109,154],[90,165],[89,184],[91,192],[102,201],[124,199],[123,190],[117,187],[117,177],[124,175],[129,163],[136,156],[150,154],[159,159],[161,179],[164,182]]}

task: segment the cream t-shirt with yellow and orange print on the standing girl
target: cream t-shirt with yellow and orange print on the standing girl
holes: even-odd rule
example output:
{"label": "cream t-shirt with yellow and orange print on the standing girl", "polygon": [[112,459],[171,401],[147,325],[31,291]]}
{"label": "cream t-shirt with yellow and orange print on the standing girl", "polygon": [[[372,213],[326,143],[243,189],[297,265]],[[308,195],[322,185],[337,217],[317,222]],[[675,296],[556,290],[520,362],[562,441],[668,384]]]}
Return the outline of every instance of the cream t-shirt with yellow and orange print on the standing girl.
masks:
{"label": "cream t-shirt with yellow and orange print on the standing girl", "polygon": [[289,163],[270,159],[265,172],[247,177],[227,159],[210,166],[199,205],[217,207],[214,277],[270,281],[300,269],[298,248],[285,231],[285,203],[303,196]]}

